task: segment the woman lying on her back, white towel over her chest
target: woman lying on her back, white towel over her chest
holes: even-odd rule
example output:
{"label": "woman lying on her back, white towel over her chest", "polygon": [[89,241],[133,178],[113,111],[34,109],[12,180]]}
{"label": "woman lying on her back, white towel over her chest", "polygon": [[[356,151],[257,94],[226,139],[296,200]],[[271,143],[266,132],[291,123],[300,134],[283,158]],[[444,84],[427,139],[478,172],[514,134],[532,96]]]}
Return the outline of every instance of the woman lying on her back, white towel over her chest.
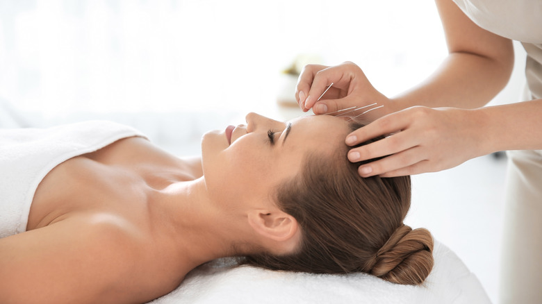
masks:
{"label": "woman lying on her back, white towel over her chest", "polygon": [[359,177],[343,140],[359,124],[246,120],[206,133],[201,159],[104,121],[0,130],[0,303],[145,303],[218,257],[425,280],[410,179]]}

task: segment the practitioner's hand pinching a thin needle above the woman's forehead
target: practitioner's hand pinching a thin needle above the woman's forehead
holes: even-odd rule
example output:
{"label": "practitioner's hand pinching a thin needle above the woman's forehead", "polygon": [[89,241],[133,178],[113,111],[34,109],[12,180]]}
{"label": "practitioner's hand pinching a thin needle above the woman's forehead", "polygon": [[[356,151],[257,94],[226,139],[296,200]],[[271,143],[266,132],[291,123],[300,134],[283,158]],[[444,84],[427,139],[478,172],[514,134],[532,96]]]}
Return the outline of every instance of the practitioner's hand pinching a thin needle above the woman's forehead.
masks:
{"label": "practitioner's hand pinching a thin needle above the woman's forehead", "polygon": [[[333,86],[317,102],[331,83]],[[373,120],[393,112],[389,99],[378,92],[363,71],[352,62],[334,67],[306,65],[299,75],[296,89],[295,99],[304,112],[312,108],[315,114],[325,114],[375,102],[384,105],[384,108],[370,112],[371,117],[363,118]]]}

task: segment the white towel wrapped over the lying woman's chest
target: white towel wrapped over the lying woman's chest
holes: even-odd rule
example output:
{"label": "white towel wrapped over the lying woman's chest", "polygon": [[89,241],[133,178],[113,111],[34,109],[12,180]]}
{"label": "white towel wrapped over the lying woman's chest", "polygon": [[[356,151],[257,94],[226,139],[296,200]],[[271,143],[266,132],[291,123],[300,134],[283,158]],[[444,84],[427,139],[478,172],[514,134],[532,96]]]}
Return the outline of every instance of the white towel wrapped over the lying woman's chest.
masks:
{"label": "white towel wrapped over the lying woman's chest", "polygon": [[26,230],[35,190],[58,164],[138,131],[110,121],[0,129],[0,237]]}

